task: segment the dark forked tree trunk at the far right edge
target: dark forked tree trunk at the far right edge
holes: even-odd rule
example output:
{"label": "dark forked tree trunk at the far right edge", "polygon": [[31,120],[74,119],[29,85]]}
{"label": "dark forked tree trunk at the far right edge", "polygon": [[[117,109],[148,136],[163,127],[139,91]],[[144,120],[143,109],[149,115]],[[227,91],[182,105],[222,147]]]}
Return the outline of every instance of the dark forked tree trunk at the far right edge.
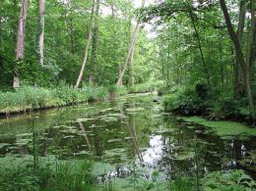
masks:
{"label": "dark forked tree trunk at the far right edge", "polygon": [[[247,91],[247,96],[248,96],[248,105],[249,105],[249,110],[251,113],[251,118],[253,120],[253,126],[255,125],[256,122],[256,117],[255,117],[255,110],[254,110],[254,104],[253,104],[253,95],[252,95],[252,89],[251,89],[251,79],[250,79],[250,71],[252,70],[252,64],[255,59],[255,45],[253,42],[255,42],[255,15],[252,14],[252,19],[251,19],[251,38],[249,38],[249,47],[248,47],[248,55],[247,59],[245,61],[245,57],[241,48],[241,44],[239,42],[239,37],[235,33],[232,23],[230,21],[230,16],[228,13],[228,9],[226,7],[225,0],[220,0],[220,6],[223,11],[223,15],[226,21],[226,25],[228,28],[228,32],[230,34],[230,38],[233,41],[233,44],[235,45],[236,49],[236,59],[238,60],[242,71],[243,71],[243,79],[244,83],[246,85],[246,91]],[[253,10],[252,10],[253,11]],[[253,13],[253,12],[252,12]],[[250,35],[249,35],[250,36]]]}

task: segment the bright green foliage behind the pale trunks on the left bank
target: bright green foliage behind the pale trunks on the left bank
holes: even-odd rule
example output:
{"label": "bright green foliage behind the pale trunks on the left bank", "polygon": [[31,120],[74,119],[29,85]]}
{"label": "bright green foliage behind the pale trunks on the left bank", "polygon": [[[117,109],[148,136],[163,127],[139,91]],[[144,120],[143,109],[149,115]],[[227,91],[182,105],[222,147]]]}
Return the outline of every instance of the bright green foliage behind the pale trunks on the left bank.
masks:
{"label": "bright green foliage behind the pale trunks on the left bank", "polygon": [[[32,0],[29,4],[25,30],[25,55],[22,62],[16,62],[15,41],[20,2],[3,1],[0,5],[0,86],[12,86],[15,68],[21,81],[31,85],[36,83],[40,86],[49,86],[61,81],[74,85],[88,41],[91,6],[90,1],[46,2],[45,57],[44,64],[41,65],[38,47],[40,32],[38,2]],[[131,21],[134,8],[131,1],[106,1],[102,2],[101,6],[103,10],[97,18],[97,34],[94,32],[92,35],[83,81],[88,83],[91,73],[94,84],[108,86],[116,83],[119,68],[125,62],[130,36],[134,30]],[[113,14],[111,14],[111,6],[113,6]],[[149,44],[143,31],[137,41],[134,76],[135,81],[145,82],[151,73],[150,65],[154,64],[149,61],[155,56],[148,53],[148,49],[155,52],[156,46]],[[97,49],[96,56],[94,49]],[[142,68],[144,68],[143,72]],[[128,83],[128,75],[124,77],[124,83]]]}

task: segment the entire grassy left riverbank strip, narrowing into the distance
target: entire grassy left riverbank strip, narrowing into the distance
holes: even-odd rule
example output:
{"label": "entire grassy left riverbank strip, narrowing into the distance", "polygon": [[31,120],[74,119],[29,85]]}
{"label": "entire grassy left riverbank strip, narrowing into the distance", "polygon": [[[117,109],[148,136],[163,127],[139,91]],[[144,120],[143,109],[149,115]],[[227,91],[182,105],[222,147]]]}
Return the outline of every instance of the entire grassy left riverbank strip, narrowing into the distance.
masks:
{"label": "entire grassy left riverbank strip, narrowing into the distance", "polygon": [[136,84],[134,86],[89,86],[74,89],[70,86],[55,88],[23,86],[17,91],[0,91],[0,117],[27,112],[47,110],[114,99],[120,95],[155,91],[157,83]]}

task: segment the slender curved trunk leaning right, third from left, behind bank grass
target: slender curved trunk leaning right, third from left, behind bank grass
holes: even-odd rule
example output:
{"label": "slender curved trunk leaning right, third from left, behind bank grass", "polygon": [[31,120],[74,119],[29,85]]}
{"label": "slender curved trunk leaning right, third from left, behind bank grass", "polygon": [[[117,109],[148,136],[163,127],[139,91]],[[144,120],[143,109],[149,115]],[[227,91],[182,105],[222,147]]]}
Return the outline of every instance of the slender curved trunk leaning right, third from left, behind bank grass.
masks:
{"label": "slender curved trunk leaning right, third from left, behind bank grass", "polygon": [[88,23],[89,25],[89,34],[88,34],[88,39],[87,39],[87,44],[86,44],[86,48],[85,48],[85,53],[84,53],[84,60],[83,60],[83,63],[82,63],[82,67],[81,67],[81,70],[80,70],[80,73],[79,73],[79,76],[78,76],[78,79],[76,81],[76,86],[75,88],[78,88],[82,78],[83,78],[83,74],[84,74],[84,68],[85,68],[85,65],[86,65],[86,62],[87,62],[87,57],[88,57],[88,51],[89,51],[89,45],[91,43],[91,39],[92,39],[92,32],[91,32],[91,29],[92,29],[92,26],[91,26],[91,23],[93,22],[93,15],[94,15],[94,0],[92,0],[92,9],[91,9],[91,19],[90,19],[90,22]]}

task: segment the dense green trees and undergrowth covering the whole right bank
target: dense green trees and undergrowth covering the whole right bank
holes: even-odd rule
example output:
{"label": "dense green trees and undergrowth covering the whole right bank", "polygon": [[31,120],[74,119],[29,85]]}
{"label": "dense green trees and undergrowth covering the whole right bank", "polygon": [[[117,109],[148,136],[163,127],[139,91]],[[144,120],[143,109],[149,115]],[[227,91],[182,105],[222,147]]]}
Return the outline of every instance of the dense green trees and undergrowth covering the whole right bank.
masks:
{"label": "dense green trees and undergrowth covering the whole right bank", "polygon": [[[165,93],[171,94],[164,100],[167,110],[253,123],[255,6],[253,1],[220,2],[164,1],[140,10],[140,16],[157,19],[159,75],[168,84]],[[245,61],[239,60],[239,51],[247,55]]]}

